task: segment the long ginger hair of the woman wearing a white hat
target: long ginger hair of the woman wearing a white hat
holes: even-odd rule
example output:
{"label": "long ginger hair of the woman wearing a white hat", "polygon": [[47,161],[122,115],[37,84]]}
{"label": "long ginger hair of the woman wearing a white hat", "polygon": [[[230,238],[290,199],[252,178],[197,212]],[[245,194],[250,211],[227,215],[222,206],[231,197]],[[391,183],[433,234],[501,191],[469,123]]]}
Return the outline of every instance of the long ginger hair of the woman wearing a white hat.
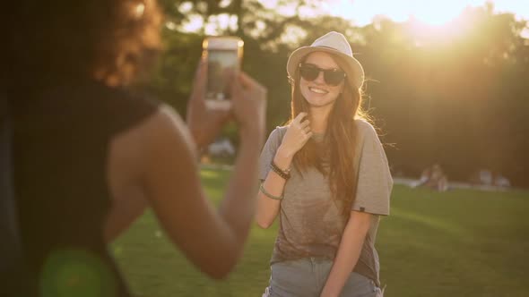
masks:
{"label": "long ginger hair of the woman wearing a white hat", "polygon": [[[331,55],[331,54],[329,54]],[[343,59],[331,55],[341,69],[345,69]],[[351,75],[351,73],[347,73]],[[310,114],[307,100],[299,89],[299,70],[291,80],[291,119],[301,112]],[[351,87],[346,79],[343,93],[334,101],[333,110],[327,118],[325,138],[322,143],[308,140],[303,148],[294,156],[294,166],[303,174],[308,167],[314,166],[329,181],[329,188],[335,200],[343,201],[343,216],[349,216],[356,193],[358,180],[357,168],[354,168],[354,157],[360,153],[355,151],[358,133],[355,118],[366,118],[361,110],[360,89]],[[328,165],[325,165],[328,160]]]}

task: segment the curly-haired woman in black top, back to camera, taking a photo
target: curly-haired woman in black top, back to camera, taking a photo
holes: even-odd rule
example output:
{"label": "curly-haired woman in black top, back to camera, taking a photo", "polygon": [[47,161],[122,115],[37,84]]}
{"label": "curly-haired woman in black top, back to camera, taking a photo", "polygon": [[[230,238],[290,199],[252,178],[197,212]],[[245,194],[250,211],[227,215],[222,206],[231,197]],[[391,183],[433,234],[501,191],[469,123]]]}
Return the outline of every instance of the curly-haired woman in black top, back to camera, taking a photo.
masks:
{"label": "curly-haired woman in black top, back to camera, taking a photo", "polygon": [[[253,223],[266,89],[240,72],[231,77],[232,109],[206,109],[201,64],[189,132],[171,107],[127,89],[146,72],[143,54],[160,47],[155,1],[20,0],[2,10],[0,91],[13,115],[14,197],[27,264],[26,278],[3,281],[30,291],[7,295],[130,296],[108,242],[147,206],[196,267],[226,276]],[[216,210],[193,138],[204,146],[230,118],[240,146]]]}

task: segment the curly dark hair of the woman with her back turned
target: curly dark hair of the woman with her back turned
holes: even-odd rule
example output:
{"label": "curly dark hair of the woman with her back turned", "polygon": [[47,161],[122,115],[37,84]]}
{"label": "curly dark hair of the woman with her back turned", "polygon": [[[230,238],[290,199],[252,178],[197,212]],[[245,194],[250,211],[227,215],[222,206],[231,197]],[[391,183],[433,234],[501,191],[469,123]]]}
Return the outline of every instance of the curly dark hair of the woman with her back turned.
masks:
{"label": "curly dark hair of the woman with her back turned", "polygon": [[156,0],[17,0],[2,5],[0,87],[72,79],[126,85],[160,48]]}

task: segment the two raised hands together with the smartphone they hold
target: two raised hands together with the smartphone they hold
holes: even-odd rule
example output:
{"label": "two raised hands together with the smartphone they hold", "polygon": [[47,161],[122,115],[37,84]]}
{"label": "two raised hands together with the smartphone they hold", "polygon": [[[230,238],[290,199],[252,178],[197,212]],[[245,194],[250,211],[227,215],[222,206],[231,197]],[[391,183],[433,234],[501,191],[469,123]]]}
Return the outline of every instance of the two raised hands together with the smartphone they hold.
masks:
{"label": "two raised hands together with the smartphone they hold", "polygon": [[264,131],[266,89],[241,71],[242,48],[240,38],[204,39],[202,61],[186,113],[187,125],[199,148],[218,137],[230,119],[250,132],[248,137]]}

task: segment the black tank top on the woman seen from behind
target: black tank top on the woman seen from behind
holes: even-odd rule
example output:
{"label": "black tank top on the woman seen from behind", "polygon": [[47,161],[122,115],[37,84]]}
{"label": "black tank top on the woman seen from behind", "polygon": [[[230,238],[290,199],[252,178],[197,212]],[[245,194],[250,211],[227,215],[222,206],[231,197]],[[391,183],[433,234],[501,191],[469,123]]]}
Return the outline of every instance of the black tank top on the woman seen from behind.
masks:
{"label": "black tank top on the woman seen from behind", "polygon": [[94,81],[14,103],[15,197],[31,296],[129,296],[103,239],[108,147],[158,103]]}

